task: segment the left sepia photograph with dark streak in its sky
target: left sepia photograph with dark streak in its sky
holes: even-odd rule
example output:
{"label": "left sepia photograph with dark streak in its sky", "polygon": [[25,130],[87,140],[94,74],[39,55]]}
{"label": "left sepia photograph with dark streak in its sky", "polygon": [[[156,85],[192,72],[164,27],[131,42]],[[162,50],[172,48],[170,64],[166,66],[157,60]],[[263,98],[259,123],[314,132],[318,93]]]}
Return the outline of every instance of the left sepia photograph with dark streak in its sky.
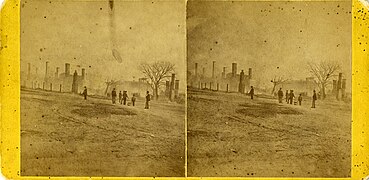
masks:
{"label": "left sepia photograph with dark streak in its sky", "polygon": [[184,177],[185,1],[20,6],[21,176]]}

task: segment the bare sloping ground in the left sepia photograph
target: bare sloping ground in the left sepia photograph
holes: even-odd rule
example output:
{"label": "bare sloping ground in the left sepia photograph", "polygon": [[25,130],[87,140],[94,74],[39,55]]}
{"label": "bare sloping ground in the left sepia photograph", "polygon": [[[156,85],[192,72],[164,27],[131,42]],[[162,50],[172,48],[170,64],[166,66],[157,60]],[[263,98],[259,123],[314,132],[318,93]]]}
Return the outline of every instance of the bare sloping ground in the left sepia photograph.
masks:
{"label": "bare sloping ground in the left sepia photograph", "polygon": [[22,89],[21,175],[184,176],[184,105],[143,107]]}

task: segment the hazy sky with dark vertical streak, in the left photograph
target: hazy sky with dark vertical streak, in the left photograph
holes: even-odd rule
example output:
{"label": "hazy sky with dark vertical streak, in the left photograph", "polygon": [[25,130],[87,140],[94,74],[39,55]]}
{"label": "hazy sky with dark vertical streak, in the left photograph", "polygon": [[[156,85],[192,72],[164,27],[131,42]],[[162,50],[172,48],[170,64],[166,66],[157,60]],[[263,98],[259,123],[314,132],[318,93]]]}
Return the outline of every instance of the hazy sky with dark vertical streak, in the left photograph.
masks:
{"label": "hazy sky with dark vertical streak, in the left photograph", "polygon": [[[114,18],[108,0],[26,0],[21,7],[22,71],[30,62],[44,74],[49,61],[52,72],[57,66],[64,72],[68,62],[72,69],[87,67],[87,74],[99,73],[102,79],[137,80],[143,76],[137,69],[141,62],[170,61],[185,88],[184,1],[116,0]],[[122,63],[114,59],[112,49]]]}

